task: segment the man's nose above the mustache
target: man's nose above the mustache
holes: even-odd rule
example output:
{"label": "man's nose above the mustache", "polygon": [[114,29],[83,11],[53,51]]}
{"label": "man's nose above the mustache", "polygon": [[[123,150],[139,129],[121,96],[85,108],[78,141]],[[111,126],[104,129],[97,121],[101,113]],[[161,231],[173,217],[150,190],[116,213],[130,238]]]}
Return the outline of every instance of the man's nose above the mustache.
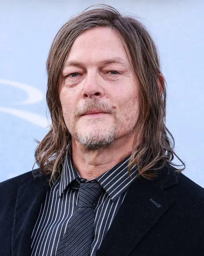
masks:
{"label": "man's nose above the mustache", "polygon": [[82,91],[83,99],[99,99],[104,96],[104,90],[103,87],[100,85],[99,79],[99,74],[87,73]]}

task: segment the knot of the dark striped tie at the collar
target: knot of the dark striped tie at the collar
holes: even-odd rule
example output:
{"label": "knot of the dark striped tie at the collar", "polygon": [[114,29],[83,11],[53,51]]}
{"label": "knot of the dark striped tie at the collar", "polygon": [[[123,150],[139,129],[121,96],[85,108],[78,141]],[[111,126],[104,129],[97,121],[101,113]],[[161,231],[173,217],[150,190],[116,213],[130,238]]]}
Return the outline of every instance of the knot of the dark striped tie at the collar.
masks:
{"label": "knot of the dark striped tie at the collar", "polygon": [[79,207],[93,207],[103,192],[103,187],[96,182],[80,183]]}

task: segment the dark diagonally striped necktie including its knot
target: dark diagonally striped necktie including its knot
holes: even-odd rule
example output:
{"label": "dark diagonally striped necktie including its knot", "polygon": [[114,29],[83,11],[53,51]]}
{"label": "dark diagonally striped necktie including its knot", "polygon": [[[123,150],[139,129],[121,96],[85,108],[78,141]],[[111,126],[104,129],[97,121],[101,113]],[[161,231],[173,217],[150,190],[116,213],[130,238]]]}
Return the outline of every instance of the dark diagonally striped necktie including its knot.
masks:
{"label": "dark diagonally striped necktie including its knot", "polygon": [[93,206],[103,193],[103,187],[97,181],[82,183],[76,179],[75,182],[75,188],[79,188],[78,209],[69,220],[56,256],[90,255],[95,220]]}

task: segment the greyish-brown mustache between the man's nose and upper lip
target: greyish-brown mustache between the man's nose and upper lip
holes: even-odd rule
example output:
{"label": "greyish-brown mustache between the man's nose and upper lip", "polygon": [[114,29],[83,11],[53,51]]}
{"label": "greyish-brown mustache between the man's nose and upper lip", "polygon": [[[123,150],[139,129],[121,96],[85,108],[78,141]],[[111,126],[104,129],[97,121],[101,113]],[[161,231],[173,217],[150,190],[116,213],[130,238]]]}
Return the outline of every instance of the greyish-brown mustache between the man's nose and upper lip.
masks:
{"label": "greyish-brown mustache between the man's nose and upper lip", "polygon": [[77,108],[75,111],[75,116],[82,116],[86,112],[92,110],[104,111],[106,113],[115,113],[113,107],[106,102],[102,102],[98,99],[93,99],[92,101],[86,102],[83,107]]}

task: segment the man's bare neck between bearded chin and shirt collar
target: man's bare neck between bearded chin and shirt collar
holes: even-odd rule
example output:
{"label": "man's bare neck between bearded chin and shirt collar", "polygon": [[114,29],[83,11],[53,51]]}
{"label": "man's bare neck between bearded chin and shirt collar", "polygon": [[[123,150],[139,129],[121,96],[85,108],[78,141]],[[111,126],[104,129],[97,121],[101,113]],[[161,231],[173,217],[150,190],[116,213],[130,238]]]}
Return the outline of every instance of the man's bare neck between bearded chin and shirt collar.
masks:
{"label": "man's bare neck between bearded chin and shirt collar", "polygon": [[80,177],[91,180],[102,175],[132,152],[134,134],[115,140],[109,147],[91,151],[72,138],[72,160]]}

